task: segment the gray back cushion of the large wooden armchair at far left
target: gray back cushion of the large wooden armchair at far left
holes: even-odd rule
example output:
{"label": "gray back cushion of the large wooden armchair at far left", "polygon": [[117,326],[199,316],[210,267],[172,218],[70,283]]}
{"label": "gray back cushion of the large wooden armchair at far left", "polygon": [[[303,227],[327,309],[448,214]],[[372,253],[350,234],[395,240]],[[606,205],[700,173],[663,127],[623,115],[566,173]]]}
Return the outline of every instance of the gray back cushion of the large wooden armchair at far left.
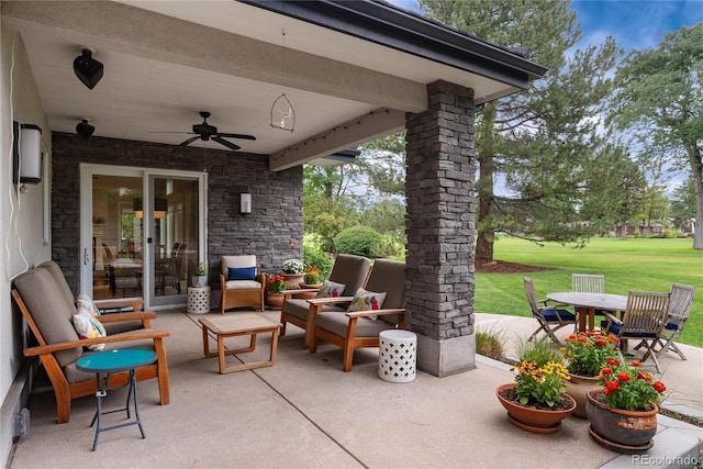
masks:
{"label": "gray back cushion of the large wooden armchair at far left", "polygon": [[[76,306],[66,302],[62,288],[48,269],[32,269],[14,280],[24,304],[47,344],[78,340],[72,315]],[[82,347],[54,354],[62,367],[82,356]]]}

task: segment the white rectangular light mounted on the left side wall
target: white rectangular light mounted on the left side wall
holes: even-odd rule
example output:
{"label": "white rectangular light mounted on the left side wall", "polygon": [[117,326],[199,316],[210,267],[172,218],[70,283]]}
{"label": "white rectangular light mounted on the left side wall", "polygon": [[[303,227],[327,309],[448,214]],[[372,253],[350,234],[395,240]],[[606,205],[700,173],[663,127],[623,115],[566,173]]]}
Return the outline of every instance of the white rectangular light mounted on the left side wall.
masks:
{"label": "white rectangular light mounted on the left side wall", "polygon": [[34,124],[12,122],[13,182],[42,182],[42,129]]}

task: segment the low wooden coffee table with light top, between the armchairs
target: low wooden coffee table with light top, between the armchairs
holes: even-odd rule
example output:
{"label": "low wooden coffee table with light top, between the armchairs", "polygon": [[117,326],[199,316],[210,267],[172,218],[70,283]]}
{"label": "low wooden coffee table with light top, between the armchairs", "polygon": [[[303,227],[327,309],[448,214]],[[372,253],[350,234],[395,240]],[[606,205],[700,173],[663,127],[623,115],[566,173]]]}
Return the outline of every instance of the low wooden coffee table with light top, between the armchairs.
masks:
{"label": "low wooden coffee table with light top, between the armchairs", "polygon": [[[226,316],[200,317],[202,325],[202,346],[205,358],[219,357],[220,373],[231,373],[234,371],[250,370],[253,368],[272,367],[276,364],[276,350],[278,349],[278,335],[281,324],[261,313],[234,313]],[[210,350],[208,344],[209,332],[215,334],[217,338],[217,350]],[[225,355],[243,354],[254,351],[256,348],[256,336],[258,334],[272,334],[271,351],[267,361],[255,361],[227,367],[224,361]],[[225,350],[224,339],[238,335],[250,335],[252,340],[248,347]]]}

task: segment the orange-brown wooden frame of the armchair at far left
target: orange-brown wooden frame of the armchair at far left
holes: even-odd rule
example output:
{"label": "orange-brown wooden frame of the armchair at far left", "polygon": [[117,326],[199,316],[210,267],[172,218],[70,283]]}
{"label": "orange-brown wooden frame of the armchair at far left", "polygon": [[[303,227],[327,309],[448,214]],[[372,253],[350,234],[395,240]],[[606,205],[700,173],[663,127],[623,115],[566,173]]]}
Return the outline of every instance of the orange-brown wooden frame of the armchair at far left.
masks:
{"label": "orange-brown wooden frame of the armchair at far left", "polygon": [[[64,342],[57,344],[47,344],[44,336],[40,332],[32,313],[26,308],[22,297],[18,290],[12,290],[12,298],[16,305],[20,308],[24,320],[26,321],[30,330],[34,334],[38,346],[29,347],[24,349],[25,357],[38,357],[48,378],[54,388],[54,394],[56,397],[56,414],[57,422],[67,423],[70,420],[70,403],[71,400],[82,398],[85,395],[91,395],[97,392],[97,386],[94,378],[90,378],[79,382],[68,382],[62,366],[54,357],[54,353],[60,350],[68,350],[76,347],[87,347],[94,344],[112,344],[130,340],[143,340],[153,339],[154,349],[157,355],[157,361],[147,365],[145,367],[137,368],[135,376],[137,381],[143,381],[150,378],[158,379],[158,390],[160,395],[160,404],[167,405],[169,403],[169,378],[168,378],[168,365],[166,360],[166,349],[164,347],[164,337],[168,337],[170,333],[168,331],[152,331],[148,328],[138,330],[133,332],[126,332],[122,334],[109,335],[107,337],[79,339],[71,342]],[[111,301],[101,302],[103,306],[110,305],[124,305],[125,301]],[[103,324],[114,324],[124,321],[142,321],[144,327],[150,327],[150,320],[156,317],[154,312],[138,312],[138,305],[135,305],[134,313],[119,313],[108,314],[100,316],[100,322]],[[129,371],[110,375],[110,387],[125,386],[129,379]]]}

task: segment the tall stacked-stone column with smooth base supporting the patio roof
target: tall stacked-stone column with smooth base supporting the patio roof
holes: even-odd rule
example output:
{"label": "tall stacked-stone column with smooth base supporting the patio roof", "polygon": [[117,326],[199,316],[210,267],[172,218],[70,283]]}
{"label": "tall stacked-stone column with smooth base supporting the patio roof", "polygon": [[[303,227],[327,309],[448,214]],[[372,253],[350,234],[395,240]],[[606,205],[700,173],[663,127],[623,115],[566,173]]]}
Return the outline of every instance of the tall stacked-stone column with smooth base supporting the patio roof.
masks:
{"label": "tall stacked-stone column with smooth base supporting the patio roof", "polygon": [[473,90],[427,86],[428,110],[408,114],[406,328],[417,367],[444,377],[475,368],[476,150]]}

